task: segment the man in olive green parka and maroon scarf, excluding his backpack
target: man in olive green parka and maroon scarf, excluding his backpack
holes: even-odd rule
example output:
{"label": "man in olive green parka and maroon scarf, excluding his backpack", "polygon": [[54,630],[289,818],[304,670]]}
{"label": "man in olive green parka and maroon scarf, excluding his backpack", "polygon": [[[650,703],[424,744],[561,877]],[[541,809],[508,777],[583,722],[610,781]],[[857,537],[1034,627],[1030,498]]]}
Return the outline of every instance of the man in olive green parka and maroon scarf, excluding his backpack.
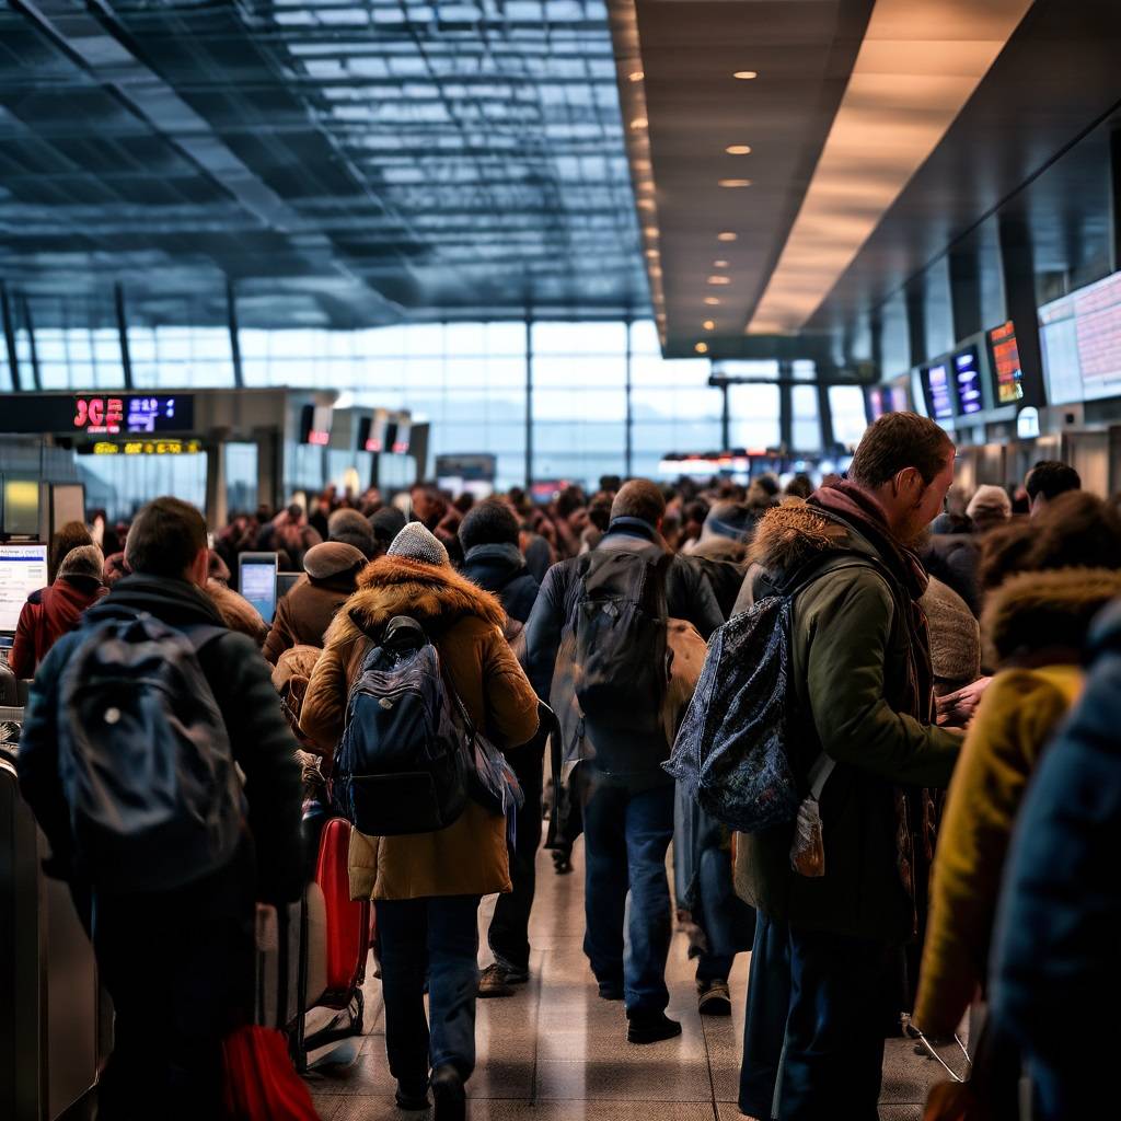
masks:
{"label": "man in olive green parka and maroon scarf, excluding his backpack", "polygon": [[759,911],[740,1091],[749,1117],[771,1117],[776,1101],[784,1121],[830,1117],[839,1103],[853,1121],[877,1117],[883,1040],[905,1000],[902,947],[924,908],[915,788],[946,786],[961,743],[934,726],[918,605],[927,576],[911,550],[953,470],[942,428],[889,414],[846,480],[771,510],[752,545],[756,599],[798,586],[789,751],[807,786],[812,773],[827,778],[824,874],[793,870],[793,826],[739,835],[736,888]]}

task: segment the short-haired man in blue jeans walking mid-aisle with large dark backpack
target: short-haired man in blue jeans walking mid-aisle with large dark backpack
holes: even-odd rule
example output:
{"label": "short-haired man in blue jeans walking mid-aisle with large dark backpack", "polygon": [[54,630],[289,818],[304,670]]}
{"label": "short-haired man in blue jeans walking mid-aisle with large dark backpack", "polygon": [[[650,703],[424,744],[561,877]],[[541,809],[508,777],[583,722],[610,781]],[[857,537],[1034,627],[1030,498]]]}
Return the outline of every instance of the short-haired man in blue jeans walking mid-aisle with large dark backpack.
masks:
{"label": "short-haired man in blue jeans walking mid-aisle with large dark backpack", "polygon": [[626,483],[599,546],[549,569],[526,624],[526,665],[538,696],[549,697],[556,675],[574,696],[554,696],[554,707],[578,710],[576,742],[566,738],[565,750],[567,762],[580,760],[587,791],[584,952],[600,995],[626,1001],[634,1044],[682,1030],[665,1015],[671,935],[665,860],[674,833],[674,781],[661,769],[669,754],[667,619],[684,619],[705,638],[723,622],[704,575],[661,538],[665,512],[654,483]]}

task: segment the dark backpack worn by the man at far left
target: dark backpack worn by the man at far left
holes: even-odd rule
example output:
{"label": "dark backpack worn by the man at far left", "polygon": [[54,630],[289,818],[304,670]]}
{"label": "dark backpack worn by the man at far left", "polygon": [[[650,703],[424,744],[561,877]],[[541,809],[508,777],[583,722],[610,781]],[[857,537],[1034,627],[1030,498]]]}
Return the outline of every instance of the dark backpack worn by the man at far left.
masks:
{"label": "dark backpack worn by the man at far left", "polygon": [[217,871],[241,841],[244,800],[197,655],[228,631],[137,613],[83,633],[58,697],[58,775],[81,869],[111,892]]}

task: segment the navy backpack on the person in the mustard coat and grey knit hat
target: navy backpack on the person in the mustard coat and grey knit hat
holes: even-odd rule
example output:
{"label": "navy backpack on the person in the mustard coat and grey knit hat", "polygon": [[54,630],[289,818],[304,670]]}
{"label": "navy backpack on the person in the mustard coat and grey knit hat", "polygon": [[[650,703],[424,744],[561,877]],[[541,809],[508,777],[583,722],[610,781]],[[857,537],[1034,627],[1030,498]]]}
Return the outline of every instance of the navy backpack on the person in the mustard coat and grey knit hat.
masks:
{"label": "navy backpack on the person in the mustard coat and grey knit hat", "polygon": [[430,833],[467,804],[469,754],[439,655],[398,615],[362,663],[334,761],[334,798],[371,836]]}

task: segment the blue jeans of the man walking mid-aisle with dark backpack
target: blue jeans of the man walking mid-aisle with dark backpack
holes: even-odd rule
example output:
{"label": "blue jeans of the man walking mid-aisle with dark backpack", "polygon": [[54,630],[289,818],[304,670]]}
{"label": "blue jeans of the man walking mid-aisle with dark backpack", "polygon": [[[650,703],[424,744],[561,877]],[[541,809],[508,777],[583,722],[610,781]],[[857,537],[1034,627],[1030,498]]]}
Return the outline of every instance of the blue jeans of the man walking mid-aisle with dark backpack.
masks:
{"label": "blue jeans of the man walking mid-aisle with dark backpack", "polygon": [[666,851],[673,836],[671,782],[634,791],[590,772],[584,807],[584,953],[596,980],[622,980],[628,1013],[660,1012],[669,1003],[666,958],[673,929]]}

